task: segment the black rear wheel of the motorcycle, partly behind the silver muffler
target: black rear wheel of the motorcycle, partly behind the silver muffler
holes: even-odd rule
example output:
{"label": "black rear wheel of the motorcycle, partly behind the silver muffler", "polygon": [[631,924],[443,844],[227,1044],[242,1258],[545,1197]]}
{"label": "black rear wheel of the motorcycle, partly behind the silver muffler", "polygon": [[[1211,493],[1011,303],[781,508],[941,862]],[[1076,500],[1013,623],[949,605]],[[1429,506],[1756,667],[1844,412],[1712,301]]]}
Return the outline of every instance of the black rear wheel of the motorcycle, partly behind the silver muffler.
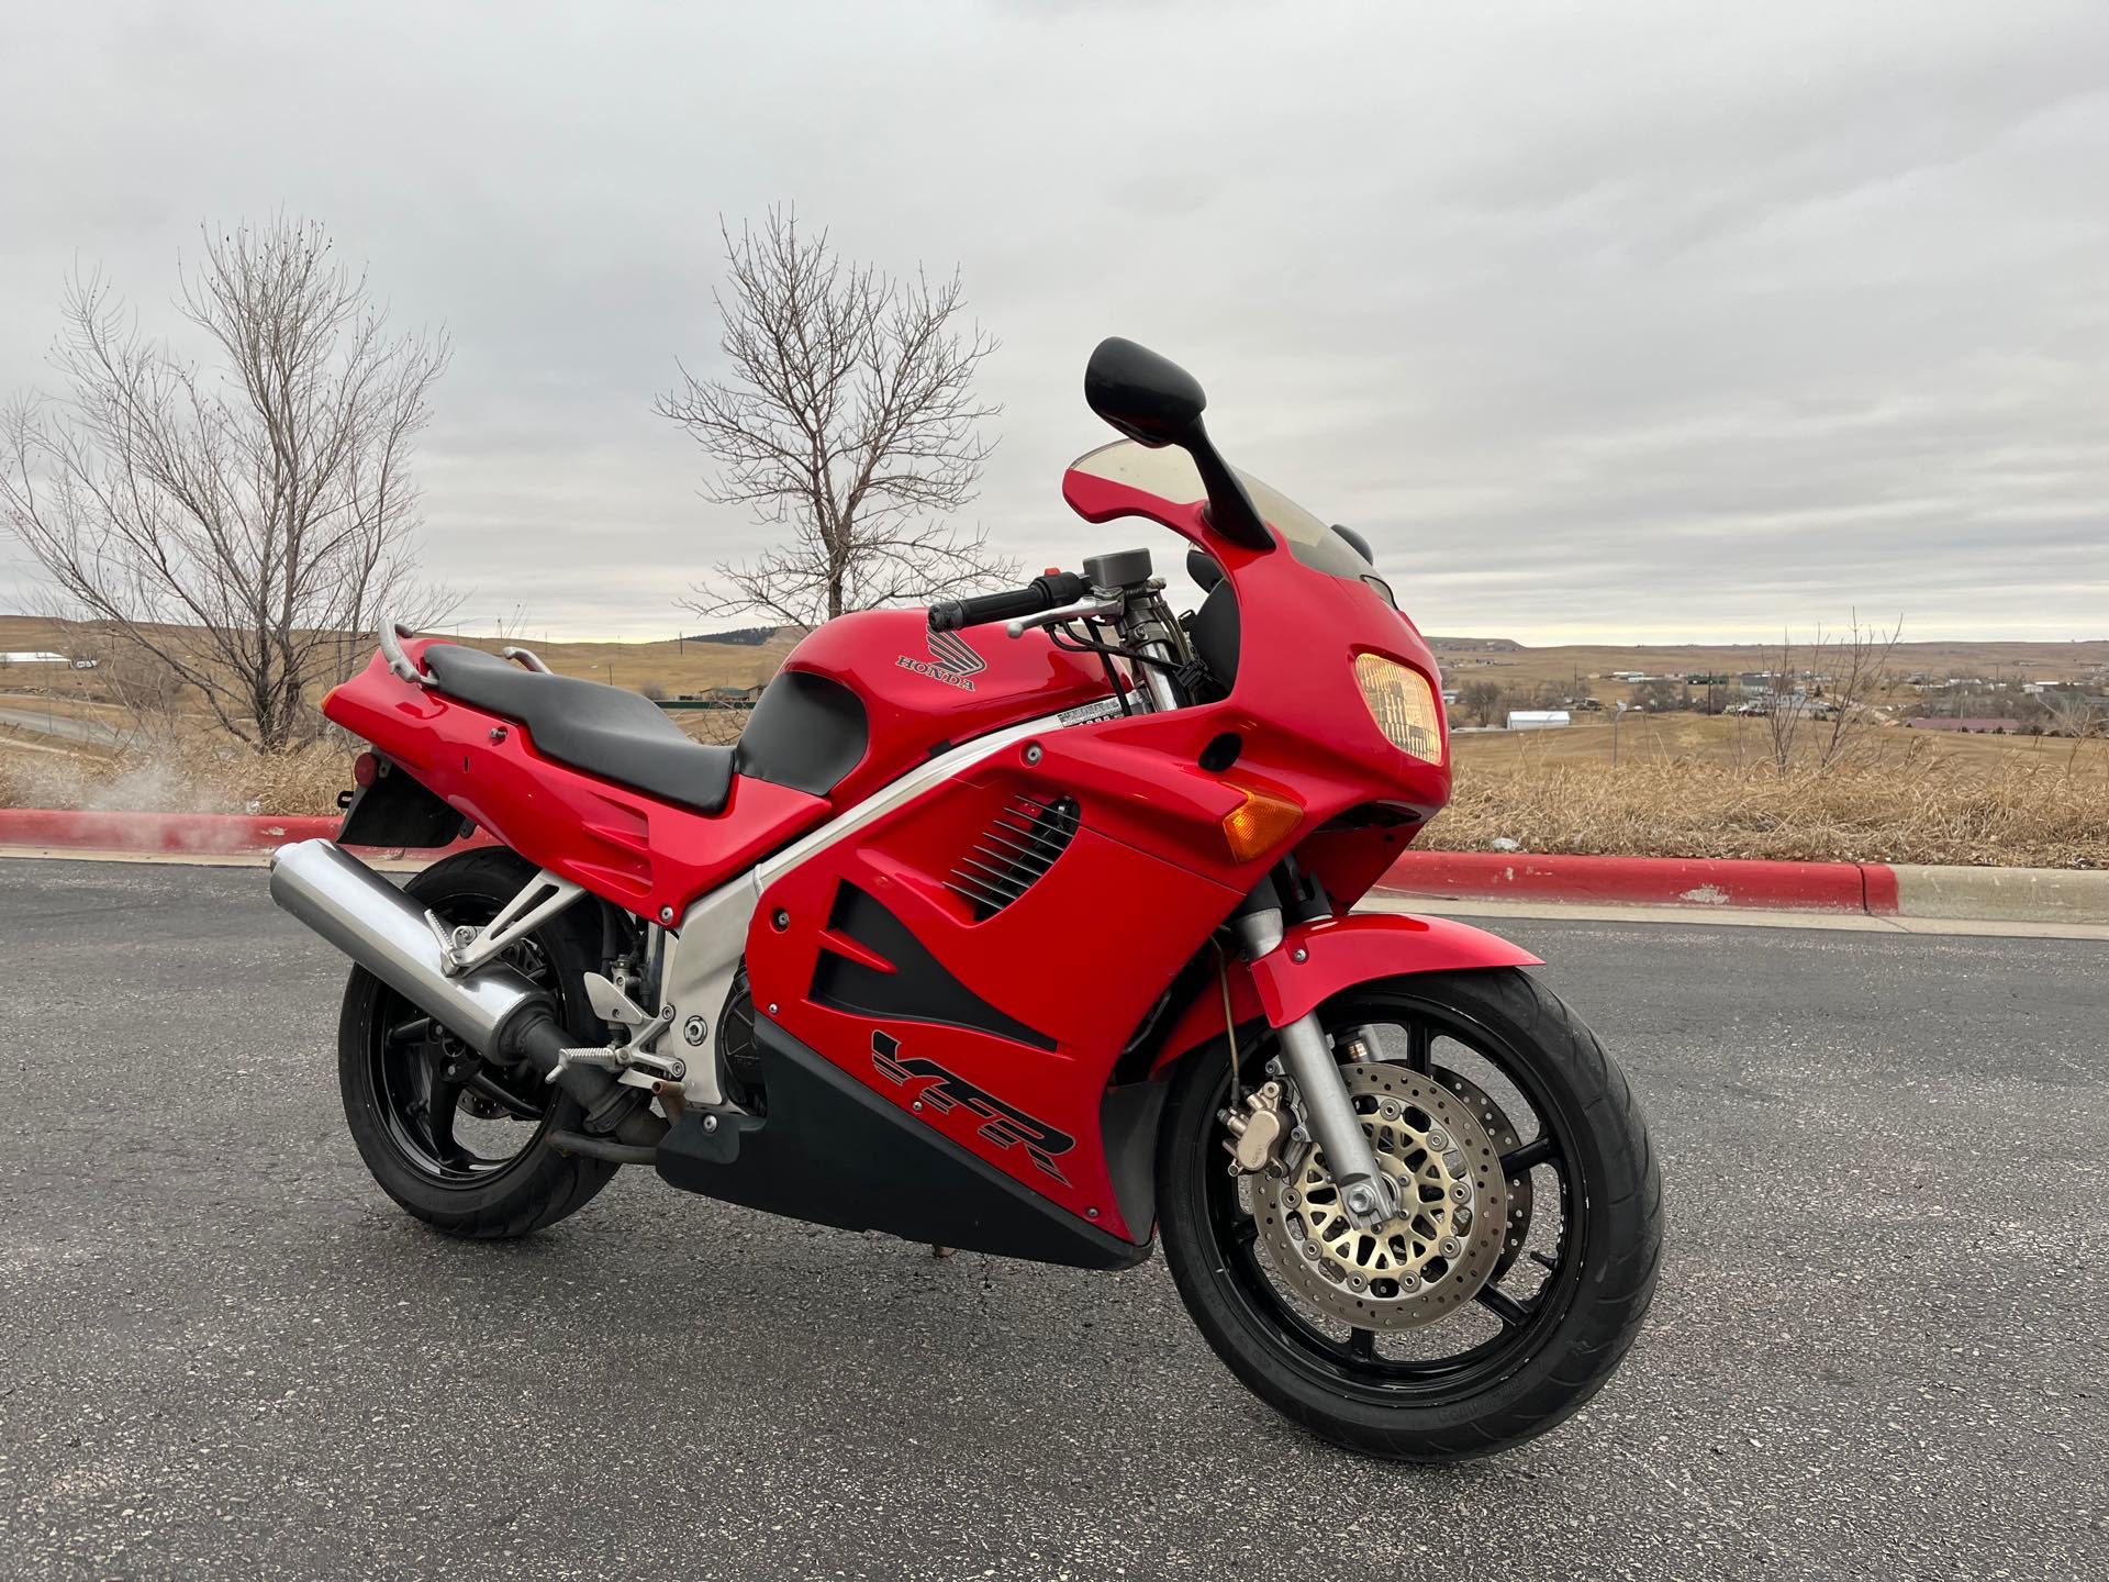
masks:
{"label": "black rear wheel of the motorcycle, partly behind the silver muffler", "polygon": [[[403,890],[447,924],[485,924],[531,877],[534,867],[512,852],[462,852]],[[597,956],[599,930],[580,905],[504,960],[553,996],[559,1021],[582,1031],[582,975]],[[449,1236],[525,1236],[582,1209],[618,1169],[544,1143],[550,1131],[580,1122],[578,1101],[563,1088],[527,1067],[487,1063],[365,968],[352,968],[344,989],[337,1084],[373,1179]]]}

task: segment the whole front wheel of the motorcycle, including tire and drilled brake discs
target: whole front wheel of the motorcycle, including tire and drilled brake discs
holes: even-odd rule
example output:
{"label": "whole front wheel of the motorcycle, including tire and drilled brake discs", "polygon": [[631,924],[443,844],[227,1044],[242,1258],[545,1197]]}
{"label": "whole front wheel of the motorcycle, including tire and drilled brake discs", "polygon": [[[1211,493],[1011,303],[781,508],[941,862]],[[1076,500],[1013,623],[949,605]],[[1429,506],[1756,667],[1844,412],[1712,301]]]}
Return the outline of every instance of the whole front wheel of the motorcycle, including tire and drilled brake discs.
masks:
{"label": "whole front wheel of the motorcycle, including tire and drilled brake discs", "polygon": [[1240,1048],[1236,1095],[1225,1046],[1200,1050],[1158,1145],[1187,1312],[1255,1394],[1352,1449],[1449,1462],[1542,1434],[1611,1375],[1656,1289],[1662,1181],[1626,1078],[1514,968],[1365,983],[1318,1019],[1400,1215],[1354,1230],[1297,1135],[1240,1171],[1223,1114],[1276,1044]]}

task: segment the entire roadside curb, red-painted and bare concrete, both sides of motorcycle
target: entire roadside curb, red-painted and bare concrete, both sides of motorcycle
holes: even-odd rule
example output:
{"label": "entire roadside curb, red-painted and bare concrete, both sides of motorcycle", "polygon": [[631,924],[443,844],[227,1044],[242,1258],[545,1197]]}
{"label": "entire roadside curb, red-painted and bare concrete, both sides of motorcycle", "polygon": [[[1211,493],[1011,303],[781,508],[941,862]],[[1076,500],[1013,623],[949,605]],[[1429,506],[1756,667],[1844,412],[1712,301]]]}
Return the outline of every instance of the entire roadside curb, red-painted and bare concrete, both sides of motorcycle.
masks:
{"label": "entire roadside curb, red-painted and bare concrete, both sides of motorcycle", "polygon": [[[141,856],[243,856],[270,852],[293,840],[335,835],[337,823],[316,816],[0,808],[0,846]],[[491,837],[479,831],[445,850],[489,842]],[[1685,911],[1755,909],[2109,924],[2109,871],[2094,869],[1405,852],[1377,882],[1377,892],[1424,901],[1548,901]]]}

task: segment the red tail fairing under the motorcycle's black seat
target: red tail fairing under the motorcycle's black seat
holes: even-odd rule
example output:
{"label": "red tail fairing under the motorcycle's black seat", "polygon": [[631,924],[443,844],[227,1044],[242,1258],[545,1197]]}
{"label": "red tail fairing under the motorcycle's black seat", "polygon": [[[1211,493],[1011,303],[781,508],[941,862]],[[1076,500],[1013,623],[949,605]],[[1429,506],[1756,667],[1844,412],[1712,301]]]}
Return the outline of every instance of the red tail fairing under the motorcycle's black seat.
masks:
{"label": "red tail fairing under the motorcycle's black seat", "polygon": [[643,918],[679,918],[829,812],[825,797],[740,774],[723,812],[675,808],[542,757],[525,726],[401,681],[380,654],[323,713],[529,863]]}

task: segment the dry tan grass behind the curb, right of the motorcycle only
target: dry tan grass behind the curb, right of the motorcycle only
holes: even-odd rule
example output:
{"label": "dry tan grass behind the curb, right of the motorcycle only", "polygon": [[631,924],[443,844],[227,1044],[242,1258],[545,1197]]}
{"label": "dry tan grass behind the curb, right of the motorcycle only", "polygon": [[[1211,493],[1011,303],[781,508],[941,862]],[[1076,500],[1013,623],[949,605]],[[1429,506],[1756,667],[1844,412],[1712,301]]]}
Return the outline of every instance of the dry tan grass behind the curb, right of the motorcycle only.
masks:
{"label": "dry tan grass behind the curb, right of the motorcycle only", "polygon": [[1913,745],[1829,774],[1704,759],[1462,766],[1421,846],[1603,856],[2109,867],[2109,747]]}

